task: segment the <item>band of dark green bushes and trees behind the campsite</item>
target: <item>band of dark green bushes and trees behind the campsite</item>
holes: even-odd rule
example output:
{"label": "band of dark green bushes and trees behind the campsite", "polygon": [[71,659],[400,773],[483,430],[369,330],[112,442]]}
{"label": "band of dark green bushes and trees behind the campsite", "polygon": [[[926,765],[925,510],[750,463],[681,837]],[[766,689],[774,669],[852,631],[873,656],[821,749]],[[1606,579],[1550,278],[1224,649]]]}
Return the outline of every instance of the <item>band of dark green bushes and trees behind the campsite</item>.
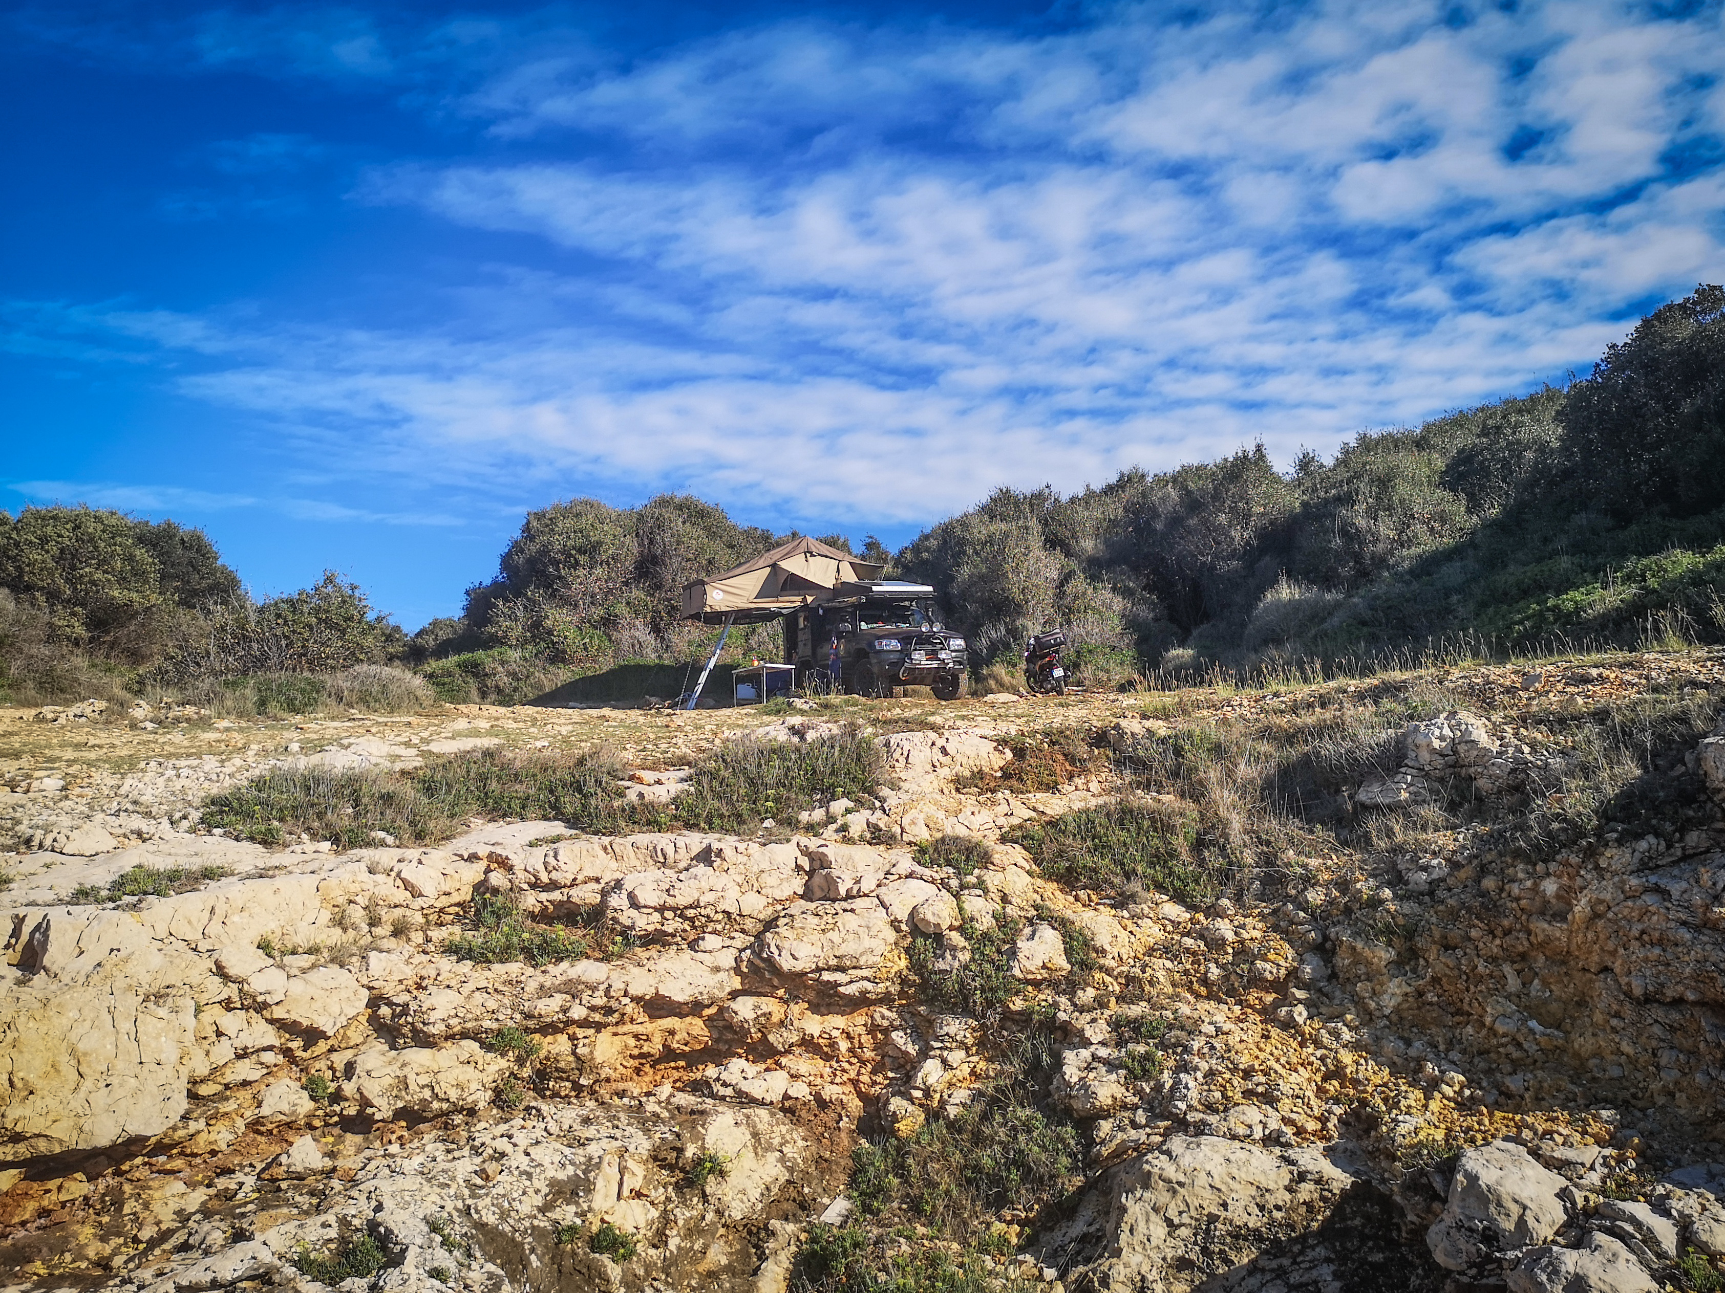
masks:
{"label": "band of dark green bushes and trees behind the campsite", "polygon": [[[0,514],[3,515],[3,514]],[[338,674],[416,669],[443,700],[521,702],[624,664],[687,664],[687,579],[775,541],[699,498],[528,514],[461,619],[411,640],[335,574],[254,602],[209,540],[91,509],[0,521],[0,686],[14,698],[178,688],[326,703]],[[844,536],[823,541],[850,548]],[[1370,667],[1725,636],[1725,288],[1663,305],[1565,388],[1361,433],[1280,472],[1263,447],[1063,497],[997,490],[895,555],[980,665],[1061,624],[1092,684],[1213,667]],[[776,655],[776,626],[731,659]],[[674,671],[668,671],[674,672]],[[281,683],[321,678],[316,686]],[[424,696],[404,679],[402,703]]]}

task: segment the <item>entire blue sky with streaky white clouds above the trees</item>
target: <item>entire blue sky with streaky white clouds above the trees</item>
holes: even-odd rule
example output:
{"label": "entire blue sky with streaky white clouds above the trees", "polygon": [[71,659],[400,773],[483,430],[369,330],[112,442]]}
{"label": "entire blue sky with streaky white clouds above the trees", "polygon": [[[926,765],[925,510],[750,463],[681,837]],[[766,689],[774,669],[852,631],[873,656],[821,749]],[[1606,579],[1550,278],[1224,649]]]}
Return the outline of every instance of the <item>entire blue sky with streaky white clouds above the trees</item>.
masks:
{"label": "entire blue sky with streaky white clouds above the trees", "polygon": [[1585,372],[1725,274],[1718,3],[12,5],[0,507],[414,628],[530,507],[904,541]]}

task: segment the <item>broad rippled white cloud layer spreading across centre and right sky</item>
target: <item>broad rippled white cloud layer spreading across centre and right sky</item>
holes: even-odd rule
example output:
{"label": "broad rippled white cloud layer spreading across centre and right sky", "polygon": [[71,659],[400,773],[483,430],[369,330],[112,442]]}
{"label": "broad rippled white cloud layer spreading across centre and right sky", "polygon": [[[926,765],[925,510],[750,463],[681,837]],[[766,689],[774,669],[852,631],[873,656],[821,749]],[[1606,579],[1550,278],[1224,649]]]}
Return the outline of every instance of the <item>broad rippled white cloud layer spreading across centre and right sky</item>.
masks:
{"label": "broad rippled white cloud layer spreading across centre and right sky", "polygon": [[355,467],[499,490],[926,521],[1259,438],[1289,460],[1585,369],[1725,265],[1720,169],[1663,160],[1722,129],[1716,10],[1449,12],[807,21],[626,67],[571,33],[235,19],[204,57],[421,88],[466,57],[440,102],[511,160],[380,167],[361,197],[592,267],[493,265],[417,331],[78,328],[200,355],[181,390]]}

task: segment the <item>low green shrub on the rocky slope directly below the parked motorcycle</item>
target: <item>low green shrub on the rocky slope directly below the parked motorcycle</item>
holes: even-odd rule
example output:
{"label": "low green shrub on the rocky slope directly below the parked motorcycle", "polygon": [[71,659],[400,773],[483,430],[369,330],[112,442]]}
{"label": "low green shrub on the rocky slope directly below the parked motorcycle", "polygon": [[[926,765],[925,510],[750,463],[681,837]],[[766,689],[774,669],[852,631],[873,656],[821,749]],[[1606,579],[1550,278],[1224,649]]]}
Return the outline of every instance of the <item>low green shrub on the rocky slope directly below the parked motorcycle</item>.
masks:
{"label": "low green shrub on the rocky slope directly below the parked motorcycle", "polygon": [[1007,836],[1061,884],[1125,895],[1147,884],[1187,907],[1221,895],[1221,876],[1197,857],[1197,815],[1149,798],[1078,809]]}

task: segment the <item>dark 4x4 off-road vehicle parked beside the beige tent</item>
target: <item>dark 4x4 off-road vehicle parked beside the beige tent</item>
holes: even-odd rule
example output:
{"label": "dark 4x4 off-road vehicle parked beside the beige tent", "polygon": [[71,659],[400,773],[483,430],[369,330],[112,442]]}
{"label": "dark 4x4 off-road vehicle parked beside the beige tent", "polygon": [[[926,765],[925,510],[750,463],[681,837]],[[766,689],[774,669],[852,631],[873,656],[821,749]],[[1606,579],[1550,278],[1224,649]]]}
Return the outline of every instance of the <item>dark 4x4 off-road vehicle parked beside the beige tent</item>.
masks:
{"label": "dark 4x4 off-road vehicle parked beside the beige tent", "polygon": [[[831,678],[835,638],[837,679]],[[866,579],[785,615],[785,660],[797,665],[799,686],[826,681],[861,696],[928,686],[938,700],[956,700],[969,653],[964,638],[940,626],[933,588]]]}

